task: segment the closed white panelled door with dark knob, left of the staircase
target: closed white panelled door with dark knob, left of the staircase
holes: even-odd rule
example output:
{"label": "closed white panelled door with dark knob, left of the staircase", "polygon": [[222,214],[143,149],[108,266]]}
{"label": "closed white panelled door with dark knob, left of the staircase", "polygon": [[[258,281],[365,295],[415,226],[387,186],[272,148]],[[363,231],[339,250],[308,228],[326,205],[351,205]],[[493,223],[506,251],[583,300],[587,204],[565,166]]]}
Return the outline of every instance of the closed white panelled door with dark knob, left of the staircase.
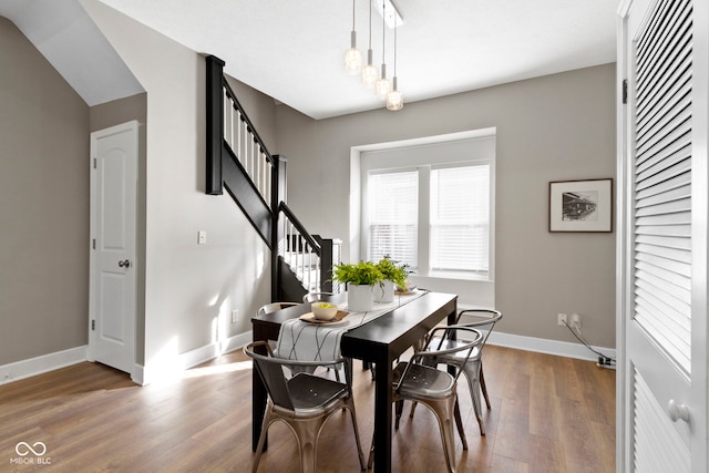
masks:
{"label": "closed white panelled door with dark knob, left of the staircase", "polygon": [[133,373],[137,122],[91,134],[89,358]]}

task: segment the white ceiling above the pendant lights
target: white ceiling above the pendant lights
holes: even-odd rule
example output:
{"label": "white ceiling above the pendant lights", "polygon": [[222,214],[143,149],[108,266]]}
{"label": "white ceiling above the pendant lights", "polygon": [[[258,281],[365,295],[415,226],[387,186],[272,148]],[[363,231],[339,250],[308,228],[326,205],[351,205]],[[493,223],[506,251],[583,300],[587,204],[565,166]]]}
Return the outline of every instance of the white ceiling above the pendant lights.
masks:
{"label": "white ceiling above the pendant lights", "polygon": [[[0,0],[0,14],[10,18],[3,3],[41,2],[51,9],[74,1]],[[194,51],[220,58],[229,75],[314,119],[383,107],[343,71],[350,0],[100,1]],[[616,60],[618,0],[394,3],[404,20],[398,30],[397,75],[407,103]],[[369,1],[356,0],[356,11],[358,47],[366,52]],[[379,64],[382,24],[376,11],[372,30]],[[387,30],[389,76],[392,32]]]}

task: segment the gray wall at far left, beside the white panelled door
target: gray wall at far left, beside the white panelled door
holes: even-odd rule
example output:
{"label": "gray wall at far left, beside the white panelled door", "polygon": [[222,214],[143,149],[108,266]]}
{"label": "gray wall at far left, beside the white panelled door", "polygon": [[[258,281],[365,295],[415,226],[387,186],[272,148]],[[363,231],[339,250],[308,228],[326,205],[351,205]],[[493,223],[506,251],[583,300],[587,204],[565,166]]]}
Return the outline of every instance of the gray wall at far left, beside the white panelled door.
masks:
{"label": "gray wall at far left, beside the white panelled door", "polygon": [[0,364],[88,342],[89,106],[0,17]]}

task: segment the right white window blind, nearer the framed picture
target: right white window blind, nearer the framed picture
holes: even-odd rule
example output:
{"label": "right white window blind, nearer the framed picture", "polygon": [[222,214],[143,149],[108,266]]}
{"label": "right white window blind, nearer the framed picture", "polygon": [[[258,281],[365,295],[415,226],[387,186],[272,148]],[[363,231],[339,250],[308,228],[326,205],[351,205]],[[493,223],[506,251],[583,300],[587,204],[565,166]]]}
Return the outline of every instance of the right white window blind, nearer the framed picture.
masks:
{"label": "right white window blind, nearer the framed picture", "polygon": [[431,270],[487,273],[490,165],[431,171]]}

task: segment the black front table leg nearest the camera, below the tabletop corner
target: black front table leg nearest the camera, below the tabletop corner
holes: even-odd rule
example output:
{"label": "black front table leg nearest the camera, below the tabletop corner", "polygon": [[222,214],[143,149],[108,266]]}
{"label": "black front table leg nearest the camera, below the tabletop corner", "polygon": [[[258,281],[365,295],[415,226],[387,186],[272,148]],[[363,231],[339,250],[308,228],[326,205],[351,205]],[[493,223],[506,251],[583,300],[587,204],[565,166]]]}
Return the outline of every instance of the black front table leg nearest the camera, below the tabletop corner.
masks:
{"label": "black front table leg nearest the camera, below the tabletop corner", "polygon": [[374,471],[391,471],[391,360],[376,362],[374,380]]}

